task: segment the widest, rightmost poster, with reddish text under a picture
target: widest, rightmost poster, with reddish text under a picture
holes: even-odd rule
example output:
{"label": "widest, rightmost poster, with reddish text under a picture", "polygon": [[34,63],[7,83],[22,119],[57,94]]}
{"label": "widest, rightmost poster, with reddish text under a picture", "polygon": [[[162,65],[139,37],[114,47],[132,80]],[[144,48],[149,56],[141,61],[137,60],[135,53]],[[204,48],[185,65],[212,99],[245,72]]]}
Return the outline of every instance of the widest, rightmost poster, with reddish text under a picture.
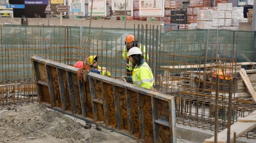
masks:
{"label": "widest, rightmost poster, with reddish text under a picture", "polygon": [[164,17],[164,0],[139,0],[140,17]]}

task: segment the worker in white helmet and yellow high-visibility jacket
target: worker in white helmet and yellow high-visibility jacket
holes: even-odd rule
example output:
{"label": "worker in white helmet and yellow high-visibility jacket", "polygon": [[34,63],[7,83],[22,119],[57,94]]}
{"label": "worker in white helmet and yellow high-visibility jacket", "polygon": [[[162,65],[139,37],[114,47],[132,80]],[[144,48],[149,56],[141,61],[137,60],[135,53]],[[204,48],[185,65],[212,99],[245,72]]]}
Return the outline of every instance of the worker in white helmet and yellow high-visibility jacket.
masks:
{"label": "worker in white helmet and yellow high-visibility jacket", "polygon": [[154,76],[144,56],[138,47],[133,47],[128,52],[129,61],[134,66],[132,76],[124,76],[127,83],[154,90]]}

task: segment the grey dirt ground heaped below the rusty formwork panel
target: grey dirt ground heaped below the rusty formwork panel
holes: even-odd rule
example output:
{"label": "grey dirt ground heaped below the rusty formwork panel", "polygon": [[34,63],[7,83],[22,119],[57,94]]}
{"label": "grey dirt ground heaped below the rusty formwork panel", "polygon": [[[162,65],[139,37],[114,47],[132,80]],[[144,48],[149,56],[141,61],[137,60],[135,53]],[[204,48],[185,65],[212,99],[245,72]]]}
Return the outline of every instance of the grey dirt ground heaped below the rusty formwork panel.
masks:
{"label": "grey dirt ground heaped below the rusty formwork panel", "polygon": [[[40,104],[0,110],[1,143],[138,143],[134,139],[95,125],[83,128],[83,120],[68,117]],[[140,143],[140,142],[139,142]],[[177,138],[177,143],[195,143]]]}

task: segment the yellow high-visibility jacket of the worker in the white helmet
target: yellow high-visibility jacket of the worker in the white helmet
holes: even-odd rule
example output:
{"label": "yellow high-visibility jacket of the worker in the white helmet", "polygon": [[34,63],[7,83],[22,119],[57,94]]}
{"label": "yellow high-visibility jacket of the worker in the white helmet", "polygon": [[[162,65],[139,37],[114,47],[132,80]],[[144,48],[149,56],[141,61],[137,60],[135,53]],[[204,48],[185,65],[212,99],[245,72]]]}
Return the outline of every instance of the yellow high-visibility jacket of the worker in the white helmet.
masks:
{"label": "yellow high-visibility jacket of the worker in the white helmet", "polygon": [[144,62],[132,71],[132,82],[134,85],[150,89],[154,84],[154,76],[148,64]]}

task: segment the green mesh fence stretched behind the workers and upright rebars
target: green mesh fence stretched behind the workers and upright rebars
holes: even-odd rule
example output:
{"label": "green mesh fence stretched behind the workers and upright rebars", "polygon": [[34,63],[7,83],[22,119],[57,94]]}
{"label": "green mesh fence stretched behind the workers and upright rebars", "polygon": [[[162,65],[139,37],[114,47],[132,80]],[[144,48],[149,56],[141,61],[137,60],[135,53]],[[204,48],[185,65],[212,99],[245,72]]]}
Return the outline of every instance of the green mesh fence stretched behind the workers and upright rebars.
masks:
{"label": "green mesh fence stretched behind the workers and upright rebars", "polygon": [[[112,76],[125,75],[122,57],[125,37],[134,34],[145,45],[147,63],[154,75],[163,74],[161,66],[203,64],[216,61],[255,61],[255,32],[231,30],[185,30],[161,33],[160,26],[135,26],[136,29],[105,29],[76,26],[1,26],[0,81],[34,78],[33,55],[74,65],[86,55],[98,55],[99,64]],[[146,29],[141,29],[146,28]],[[88,45],[89,40],[89,45]]]}

